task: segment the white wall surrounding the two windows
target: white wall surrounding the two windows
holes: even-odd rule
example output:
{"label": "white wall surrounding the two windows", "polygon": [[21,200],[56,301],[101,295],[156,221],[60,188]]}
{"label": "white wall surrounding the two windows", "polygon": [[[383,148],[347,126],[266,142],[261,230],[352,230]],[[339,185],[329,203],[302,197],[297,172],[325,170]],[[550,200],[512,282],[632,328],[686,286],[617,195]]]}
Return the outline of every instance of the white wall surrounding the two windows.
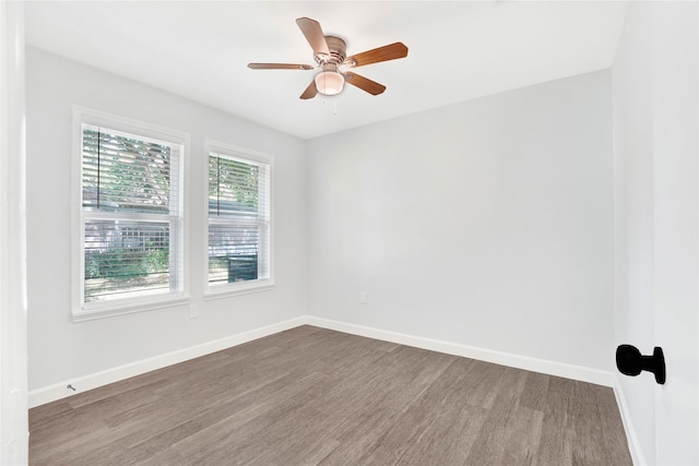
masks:
{"label": "white wall surrounding the two windows", "polygon": [[[29,391],[305,314],[304,142],[171,94],[36,49],[26,56]],[[191,296],[170,308],[88,322],[70,318],[73,105],[191,134]],[[275,157],[271,291],[203,301],[204,138]]]}

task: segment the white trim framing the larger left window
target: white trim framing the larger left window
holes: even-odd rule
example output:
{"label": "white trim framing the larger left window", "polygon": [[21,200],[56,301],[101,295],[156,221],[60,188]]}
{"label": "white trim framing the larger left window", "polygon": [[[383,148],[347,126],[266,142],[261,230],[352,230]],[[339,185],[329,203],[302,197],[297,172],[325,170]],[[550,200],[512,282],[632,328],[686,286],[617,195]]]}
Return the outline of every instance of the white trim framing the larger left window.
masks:
{"label": "white trim framing the larger left window", "polygon": [[[181,155],[181,202],[182,202],[182,290],[167,296],[144,296],[116,301],[91,302],[83,304],[83,216],[82,216],[82,124],[95,124],[116,131],[143,135],[155,140],[182,145]],[[91,108],[73,106],[72,167],[71,167],[71,316],[73,322],[82,322],[112,315],[143,312],[176,306],[185,306],[189,294],[189,166],[190,135],[186,132],[158,127],[152,123],[119,117]]]}

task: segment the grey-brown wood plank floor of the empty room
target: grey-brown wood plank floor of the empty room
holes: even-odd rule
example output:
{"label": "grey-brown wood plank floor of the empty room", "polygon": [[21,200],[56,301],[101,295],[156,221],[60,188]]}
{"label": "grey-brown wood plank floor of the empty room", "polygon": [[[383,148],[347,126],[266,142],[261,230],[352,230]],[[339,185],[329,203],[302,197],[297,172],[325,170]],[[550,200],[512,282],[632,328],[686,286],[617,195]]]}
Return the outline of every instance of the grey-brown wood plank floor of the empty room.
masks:
{"label": "grey-brown wood plank floor of the empty room", "polygon": [[32,465],[630,465],[612,389],[300,326],[29,410]]}

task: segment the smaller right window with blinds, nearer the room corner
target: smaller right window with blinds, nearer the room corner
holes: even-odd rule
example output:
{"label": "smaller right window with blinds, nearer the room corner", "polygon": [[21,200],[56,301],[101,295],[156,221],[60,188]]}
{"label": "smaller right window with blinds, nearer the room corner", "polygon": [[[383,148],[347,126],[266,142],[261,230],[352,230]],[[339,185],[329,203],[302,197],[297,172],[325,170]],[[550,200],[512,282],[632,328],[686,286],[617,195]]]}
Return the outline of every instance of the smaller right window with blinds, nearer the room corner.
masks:
{"label": "smaller right window with blinds, nearer the room corner", "polygon": [[272,158],[209,143],[210,294],[257,291],[272,283]]}

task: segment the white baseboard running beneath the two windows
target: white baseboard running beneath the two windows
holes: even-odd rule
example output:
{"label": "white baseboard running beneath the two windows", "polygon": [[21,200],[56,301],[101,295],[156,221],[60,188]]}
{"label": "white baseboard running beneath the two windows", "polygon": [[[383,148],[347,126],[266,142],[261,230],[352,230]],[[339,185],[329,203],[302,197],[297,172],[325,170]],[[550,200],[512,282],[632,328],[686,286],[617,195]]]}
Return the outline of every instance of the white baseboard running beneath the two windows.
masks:
{"label": "white baseboard running beneath the two windows", "polygon": [[[60,383],[56,383],[54,385],[31,391],[28,393],[28,406],[29,408],[33,408],[35,406],[66,398],[71,395],[85,392],[87,390],[97,389],[109,383],[118,382],[120,380],[140,375],[156,369],[162,369],[167,366],[183,362],[189,359],[199,358],[200,356],[221,351],[222,349],[241,345],[244,343],[262,338],[268,335],[273,335],[285,330],[304,325],[305,323],[307,323],[307,319],[306,316],[301,315],[276,324],[266,325],[260,328],[254,328],[248,332],[227,336],[225,338],[215,339],[213,342],[208,342],[201,345],[168,353],[166,355],[155,356],[153,358],[143,359],[141,361],[120,366],[114,369],[108,369],[93,374],[70,379]],[[75,391],[68,389],[69,384],[74,387]]]}

